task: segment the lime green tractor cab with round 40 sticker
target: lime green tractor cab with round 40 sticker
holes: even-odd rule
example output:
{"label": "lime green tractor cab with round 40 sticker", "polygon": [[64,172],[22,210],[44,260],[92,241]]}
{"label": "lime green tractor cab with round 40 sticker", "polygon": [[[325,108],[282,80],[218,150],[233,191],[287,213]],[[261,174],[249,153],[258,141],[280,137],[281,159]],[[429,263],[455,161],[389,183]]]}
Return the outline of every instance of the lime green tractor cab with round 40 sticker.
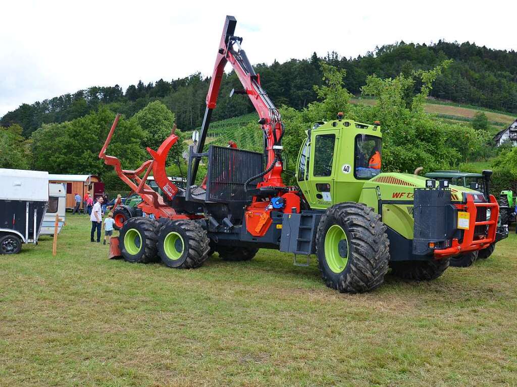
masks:
{"label": "lime green tractor cab with round 40 sticker", "polygon": [[315,122],[298,155],[296,178],[311,208],[357,201],[382,166],[382,134],[374,125],[343,119]]}

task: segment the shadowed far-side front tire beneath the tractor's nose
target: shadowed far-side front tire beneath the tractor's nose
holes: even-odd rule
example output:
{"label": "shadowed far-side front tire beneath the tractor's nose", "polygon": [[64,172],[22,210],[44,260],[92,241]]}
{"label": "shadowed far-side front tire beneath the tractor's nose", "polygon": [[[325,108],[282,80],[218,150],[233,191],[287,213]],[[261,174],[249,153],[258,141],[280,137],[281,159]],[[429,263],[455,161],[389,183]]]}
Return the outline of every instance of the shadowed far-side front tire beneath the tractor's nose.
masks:
{"label": "shadowed far-side front tire beneath the tractor's nose", "polygon": [[393,276],[412,281],[431,281],[441,276],[449,267],[449,259],[432,261],[392,261]]}

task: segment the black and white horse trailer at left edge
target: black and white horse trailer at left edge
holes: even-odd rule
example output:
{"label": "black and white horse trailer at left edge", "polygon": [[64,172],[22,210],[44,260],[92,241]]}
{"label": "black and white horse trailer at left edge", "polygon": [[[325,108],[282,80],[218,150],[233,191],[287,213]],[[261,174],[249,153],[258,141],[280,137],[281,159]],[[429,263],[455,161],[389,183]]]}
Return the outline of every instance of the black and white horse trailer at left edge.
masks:
{"label": "black and white horse trailer at left edge", "polygon": [[0,254],[38,241],[49,202],[49,173],[0,168]]}

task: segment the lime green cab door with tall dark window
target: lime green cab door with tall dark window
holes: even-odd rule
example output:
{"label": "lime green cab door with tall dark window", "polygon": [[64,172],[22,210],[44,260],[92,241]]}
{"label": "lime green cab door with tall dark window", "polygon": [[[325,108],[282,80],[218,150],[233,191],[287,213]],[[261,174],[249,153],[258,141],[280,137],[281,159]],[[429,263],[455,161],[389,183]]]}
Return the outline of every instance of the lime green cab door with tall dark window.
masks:
{"label": "lime green cab door with tall dark window", "polygon": [[337,164],[338,132],[317,131],[311,143],[309,198],[312,208],[328,208],[334,198],[334,176]]}

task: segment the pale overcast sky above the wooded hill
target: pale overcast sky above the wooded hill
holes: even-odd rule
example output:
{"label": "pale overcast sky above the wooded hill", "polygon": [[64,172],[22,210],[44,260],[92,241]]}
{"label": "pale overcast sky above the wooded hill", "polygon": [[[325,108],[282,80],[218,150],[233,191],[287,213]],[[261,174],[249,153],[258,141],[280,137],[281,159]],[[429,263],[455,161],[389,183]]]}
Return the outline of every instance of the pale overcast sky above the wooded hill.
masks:
{"label": "pale overcast sky above the wooded hill", "polygon": [[226,14],[253,63],[355,57],[396,41],[517,51],[517,2],[2,1],[0,117],[89,86],[211,75]]}

